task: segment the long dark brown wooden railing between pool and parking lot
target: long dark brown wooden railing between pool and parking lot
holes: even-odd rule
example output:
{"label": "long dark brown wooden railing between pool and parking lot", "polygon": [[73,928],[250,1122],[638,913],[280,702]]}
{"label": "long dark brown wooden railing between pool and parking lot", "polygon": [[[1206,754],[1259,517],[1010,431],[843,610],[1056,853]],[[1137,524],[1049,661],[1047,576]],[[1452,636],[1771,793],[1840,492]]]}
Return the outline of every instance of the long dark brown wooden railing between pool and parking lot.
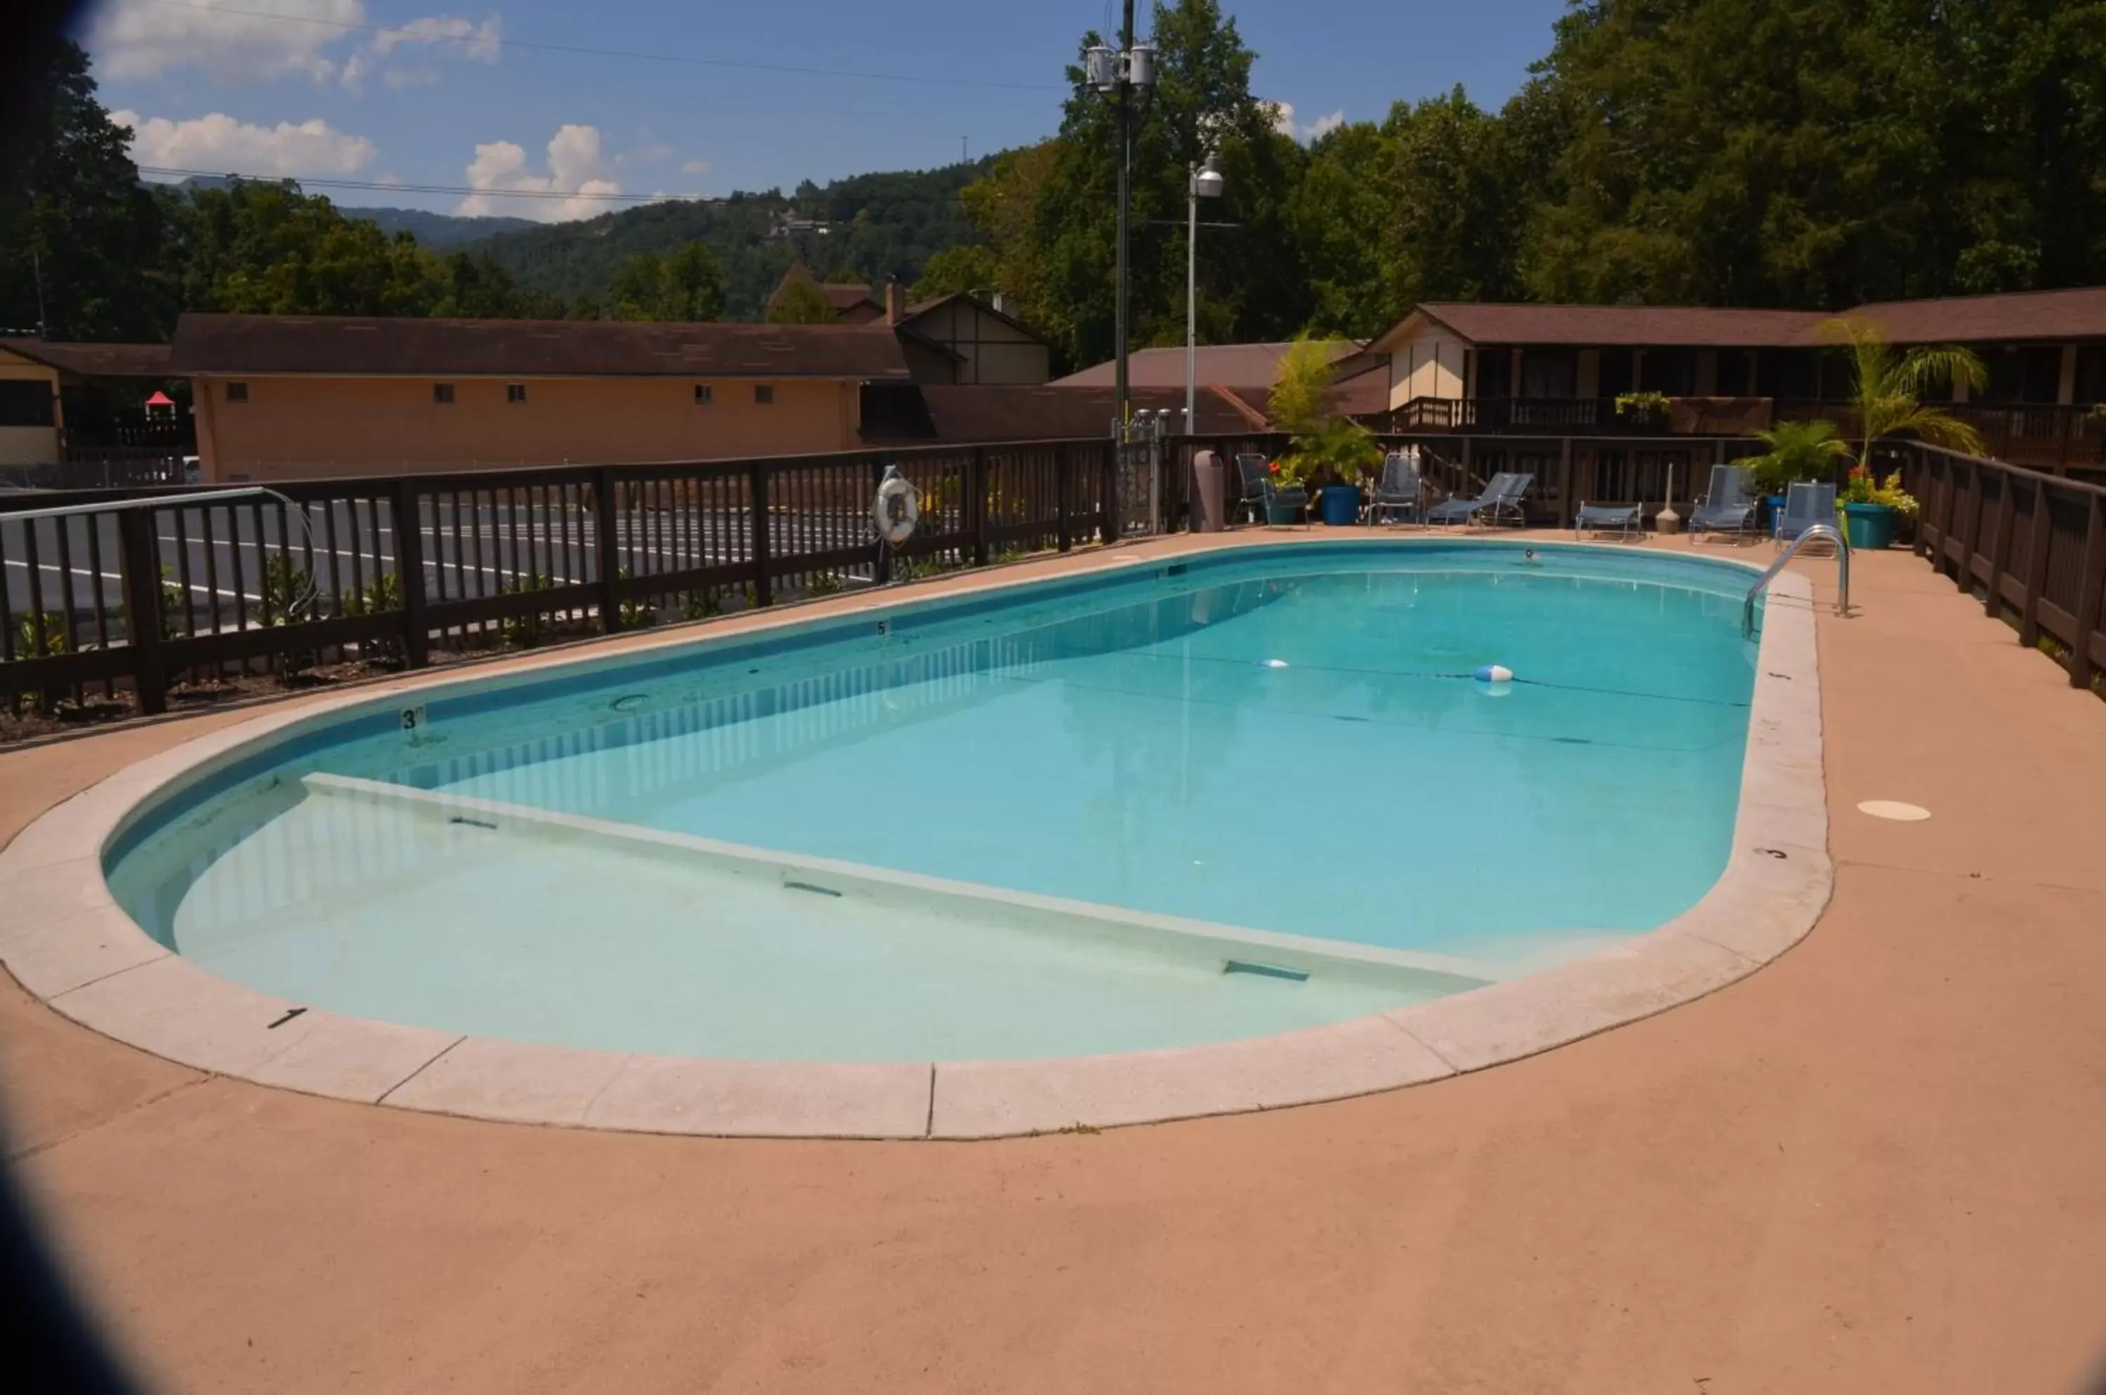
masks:
{"label": "long dark brown wooden railing between pool and parking lot", "polygon": [[[868,509],[897,465],[916,534]],[[613,633],[1120,532],[1110,442],[0,494],[0,703],[139,711],[259,667],[423,667],[440,650]],[[156,503],[21,518],[61,505]],[[1181,494],[1179,494],[1181,499]],[[1181,509],[1181,503],[1179,503]]]}

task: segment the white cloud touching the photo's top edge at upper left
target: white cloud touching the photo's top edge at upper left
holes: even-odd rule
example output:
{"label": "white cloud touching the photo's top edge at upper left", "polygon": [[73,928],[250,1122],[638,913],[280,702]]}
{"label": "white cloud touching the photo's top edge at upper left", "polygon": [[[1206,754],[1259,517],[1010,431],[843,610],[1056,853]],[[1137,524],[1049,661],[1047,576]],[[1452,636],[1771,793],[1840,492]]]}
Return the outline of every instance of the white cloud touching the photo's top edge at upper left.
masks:
{"label": "white cloud touching the photo's top edge at upper left", "polygon": [[253,13],[107,0],[88,29],[97,76],[158,78],[175,67],[202,67],[221,80],[326,82],[337,61],[324,50],[354,42],[354,32],[341,25],[366,23],[366,0],[242,0],[238,8]]}

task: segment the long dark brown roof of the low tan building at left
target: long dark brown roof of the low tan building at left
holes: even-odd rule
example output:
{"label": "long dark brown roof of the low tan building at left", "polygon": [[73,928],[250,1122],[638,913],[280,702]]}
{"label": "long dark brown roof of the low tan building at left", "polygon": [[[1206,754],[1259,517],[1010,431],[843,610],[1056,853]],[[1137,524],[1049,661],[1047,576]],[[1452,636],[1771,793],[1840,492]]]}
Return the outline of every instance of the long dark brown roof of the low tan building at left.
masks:
{"label": "long dark brown roof of the low tan building at left", "polygon": [[177,372],[903,379],[885,324],[183,316]]}

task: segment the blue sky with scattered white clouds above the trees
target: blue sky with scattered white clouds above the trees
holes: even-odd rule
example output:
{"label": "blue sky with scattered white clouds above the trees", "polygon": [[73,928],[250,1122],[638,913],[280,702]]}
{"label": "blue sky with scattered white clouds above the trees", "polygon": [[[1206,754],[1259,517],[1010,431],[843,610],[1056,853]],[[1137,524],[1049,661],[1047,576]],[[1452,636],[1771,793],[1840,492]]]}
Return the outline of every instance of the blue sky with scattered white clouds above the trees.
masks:
{"label": "blue sky with scattered white clouds above the trees", "polygon": [[[1226,8],[1259,55],[1253,86],[1308,133],[1457,82],[1504,101],[1550,48],[1565,0]],[[1040,139],[1059,124],[1076,40],[1114,15],[1104,0],[103,0],[82,38],[139,164],[486,189],[322,191],[562,219],[625,206],[596,194],[790,187],[948,164],[960,137],[973,154]]]}

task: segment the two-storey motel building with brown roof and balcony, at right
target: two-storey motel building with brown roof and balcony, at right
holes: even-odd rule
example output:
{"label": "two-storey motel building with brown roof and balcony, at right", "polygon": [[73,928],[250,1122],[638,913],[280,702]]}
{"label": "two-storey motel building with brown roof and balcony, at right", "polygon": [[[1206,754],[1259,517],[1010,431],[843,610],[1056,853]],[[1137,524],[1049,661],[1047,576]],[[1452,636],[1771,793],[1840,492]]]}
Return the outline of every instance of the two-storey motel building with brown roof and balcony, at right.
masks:
{"label": "two-storey motel building with brown roof and balcony, at right", "polygon": [[[1891,301],[1843,311],[1895,347],[1959,343],[1988,383],[1952,415],[2013,465],[2106,480],[2106,288]],[[1826,311],[1424,303],[1344,370],[1386,375],[1371,421],[1472,476],[1525,469],[1535,511],[1689,499],[1777,421],[1849,429],[1849,358]],[[1632,393],[1657,393],[1630,402]],[[1626,402],[1620,404],[1620,398]],[[1662,402],[1664,400],[1664,402]]]}

